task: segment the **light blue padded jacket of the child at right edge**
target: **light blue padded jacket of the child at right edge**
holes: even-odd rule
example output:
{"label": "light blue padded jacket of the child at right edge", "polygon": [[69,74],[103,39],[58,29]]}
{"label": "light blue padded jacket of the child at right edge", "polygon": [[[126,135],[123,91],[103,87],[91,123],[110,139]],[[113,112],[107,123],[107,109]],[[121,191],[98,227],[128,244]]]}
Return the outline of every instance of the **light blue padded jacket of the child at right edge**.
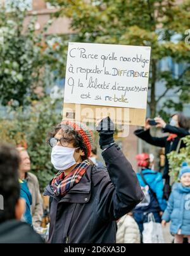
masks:
{"label": "light blue padded jacket of the child at right edge", "polygon": [[170,231],[173,234],[177,234],[179,229],[181,234],[190,234],[190,187],[174,184],[162,219],[172,221]]}

